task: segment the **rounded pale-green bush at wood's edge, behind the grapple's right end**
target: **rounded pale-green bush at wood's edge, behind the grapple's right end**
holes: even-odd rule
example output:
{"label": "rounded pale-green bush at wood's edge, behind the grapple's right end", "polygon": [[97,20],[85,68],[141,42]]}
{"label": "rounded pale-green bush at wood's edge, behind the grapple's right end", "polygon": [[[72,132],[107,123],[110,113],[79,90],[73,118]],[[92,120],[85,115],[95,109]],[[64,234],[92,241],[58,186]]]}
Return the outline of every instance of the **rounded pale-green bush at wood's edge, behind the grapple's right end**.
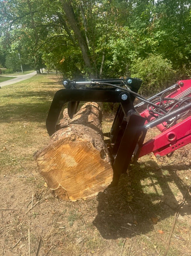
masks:
{"label": "rounded pale-green bush at wood's edge, behind the grapple's right end", "polygon": [[172,69],[171,61],[156,54],[149,54],[145,59],[134,60],[131,76],[143,80],[140,91],[146,95],[157,93],[176,82],[176,71]]}

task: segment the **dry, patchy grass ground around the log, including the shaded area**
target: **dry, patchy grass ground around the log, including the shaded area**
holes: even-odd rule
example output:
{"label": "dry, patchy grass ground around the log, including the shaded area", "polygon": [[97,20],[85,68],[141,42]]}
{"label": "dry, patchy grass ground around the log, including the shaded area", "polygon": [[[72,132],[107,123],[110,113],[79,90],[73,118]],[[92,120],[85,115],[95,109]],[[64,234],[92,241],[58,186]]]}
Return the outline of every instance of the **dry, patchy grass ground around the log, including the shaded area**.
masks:
{"label": "dry, patchy grass ground around the log, including the shaded area", "polygon": [[[163,256],[174,209],[190,185],[190,145],[172,158],[142,157],[116,188],[95,198],[61,201],[33,155],[49,141],[46,117],[62,88],[58,76],[37,75],[0,90],[0,255],[28,255],[30,241],[36,256]],[[111,119],[104,113],[105,131]],[[191,255],[190,227],[191,196],[180,210],[168,256]]]}

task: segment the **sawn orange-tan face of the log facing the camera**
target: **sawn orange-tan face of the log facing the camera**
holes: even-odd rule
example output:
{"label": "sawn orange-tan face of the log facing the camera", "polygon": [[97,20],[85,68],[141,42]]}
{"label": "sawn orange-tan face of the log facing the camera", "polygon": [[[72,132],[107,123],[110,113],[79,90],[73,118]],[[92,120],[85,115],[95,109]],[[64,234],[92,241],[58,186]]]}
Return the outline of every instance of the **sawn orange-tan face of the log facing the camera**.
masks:
{"label": "sawn orange-tan face of the log facing the camera", "polygon": [[113,179],[111,165],[90,142],[58,143],[37,162],[49,188],[71,201],[95,196]]}

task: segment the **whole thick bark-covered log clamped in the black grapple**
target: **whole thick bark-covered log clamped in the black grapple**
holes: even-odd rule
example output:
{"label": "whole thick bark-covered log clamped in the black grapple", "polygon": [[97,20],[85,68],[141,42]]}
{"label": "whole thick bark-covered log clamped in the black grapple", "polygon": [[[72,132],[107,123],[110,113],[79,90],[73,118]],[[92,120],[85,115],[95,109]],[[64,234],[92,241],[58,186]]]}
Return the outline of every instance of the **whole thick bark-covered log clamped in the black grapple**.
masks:
{"label": "whole thick bark-covered log clamped in the black grapple", "polygon": [[101,130],[101,109],[86,103],[69,121],[62,120],[48,145],[35,156],[40,174],[62,199],[95,196],[110,185],[113,169]]}

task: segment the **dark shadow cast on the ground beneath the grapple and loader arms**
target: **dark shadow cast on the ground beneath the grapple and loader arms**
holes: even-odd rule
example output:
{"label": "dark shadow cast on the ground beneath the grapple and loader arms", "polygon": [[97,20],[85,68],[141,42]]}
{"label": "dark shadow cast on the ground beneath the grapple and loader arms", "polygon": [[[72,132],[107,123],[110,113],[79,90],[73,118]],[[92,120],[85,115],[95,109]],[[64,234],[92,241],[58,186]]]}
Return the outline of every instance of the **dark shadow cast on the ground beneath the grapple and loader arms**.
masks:
{"label": "dark shadow cast on the ground beneath the grapple and loader arms", "polygon": [[[117,187],[98,194],[97,216],[93,224],[105,239],[150,232],[155,221],[164,220],[175,213],[178,203],[187,193],[187,186],[174,171],[180,168],[179,165],[163,166],[167,175],[152,161],[130,168],[129,175],[121,175]],[[183,165],[181,168],[188,170],[190,167]],[[143,185],[141,180],[147,180],[147,184]],[[179,202],[169,187],[171,182],[175,183],[180,193]],[[147,189],[153,192],[146,193]],[[190,200],[188,196],[187,202]],[[185,204],[180,214],[191,214],[191,207]]]}

